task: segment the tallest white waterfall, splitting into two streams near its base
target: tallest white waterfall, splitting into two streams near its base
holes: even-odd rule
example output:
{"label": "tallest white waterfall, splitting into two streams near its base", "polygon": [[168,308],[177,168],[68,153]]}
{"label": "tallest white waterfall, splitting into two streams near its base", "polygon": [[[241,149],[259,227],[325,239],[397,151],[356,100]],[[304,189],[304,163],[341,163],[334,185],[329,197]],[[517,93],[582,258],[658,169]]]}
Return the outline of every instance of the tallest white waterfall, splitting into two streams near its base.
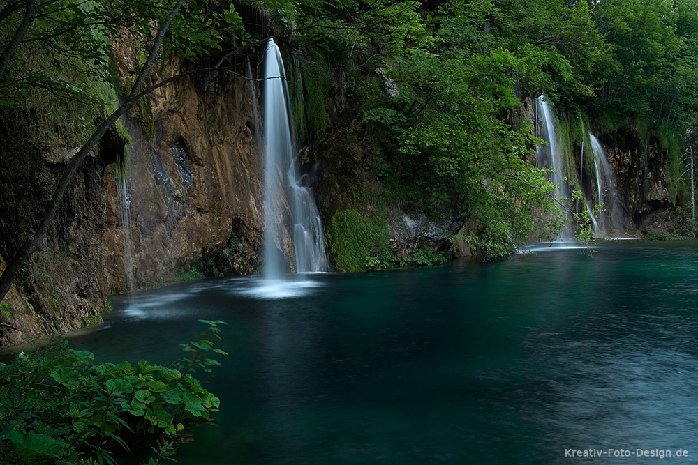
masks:
{"label": "tallest white waterfall, splitting into two streams near its base", "polygon": [[302,185],[303,178],[293,153],[288,85],[281,52],[271,38],[267,42],[264,78],[265,277],[279,278],[288,269],[281,252],[285,201],[288,201],[293,224],[297,272],[325,271],[320,214],[310,191]]}

